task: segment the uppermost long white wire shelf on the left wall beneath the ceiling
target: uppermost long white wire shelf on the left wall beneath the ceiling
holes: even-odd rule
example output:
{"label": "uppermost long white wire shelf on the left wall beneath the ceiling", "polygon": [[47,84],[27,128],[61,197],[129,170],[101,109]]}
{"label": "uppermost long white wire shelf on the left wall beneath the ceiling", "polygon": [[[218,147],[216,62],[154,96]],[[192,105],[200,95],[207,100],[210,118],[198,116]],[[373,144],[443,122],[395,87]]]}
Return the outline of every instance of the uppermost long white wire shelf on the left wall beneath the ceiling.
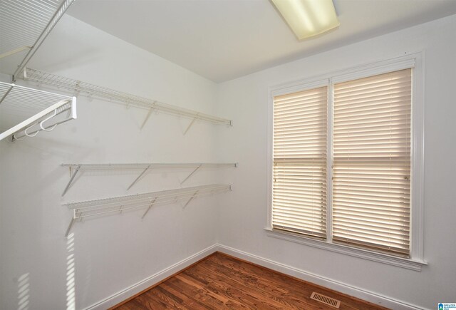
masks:
{"label": "uppermost long white wire shelf on the left wall beneath the ceiling", "polygon": [[24,79],[28,81],[34,81],[36,83],[43,83],[46,85],[63,88],[67,91],[88,95],[89,97],[108,99],[116,101],[118,103],[124,103],[126,105],[133,105],[138,108],[146,108],[149,110],[149,113],[147,114],[145,121],[147,121],[147,118],[150,116],[152,110],[156,110],[162,113],[192,118],[194,120],[204,120],[205,122],[215,125],[232,125],[232,121],[225,118],[218,118],[209,114],[199,113],[195,110],[180,108],[175,105],[161,103],[157,100],[150,100],[147,98],[139,97],[137,95],[114,91],[110,88],[96,86],[83,81],[73,80],[71,78],[65,78],[63,76],[57,76],[53,73],[46,73],[31,68],[24,69]]}

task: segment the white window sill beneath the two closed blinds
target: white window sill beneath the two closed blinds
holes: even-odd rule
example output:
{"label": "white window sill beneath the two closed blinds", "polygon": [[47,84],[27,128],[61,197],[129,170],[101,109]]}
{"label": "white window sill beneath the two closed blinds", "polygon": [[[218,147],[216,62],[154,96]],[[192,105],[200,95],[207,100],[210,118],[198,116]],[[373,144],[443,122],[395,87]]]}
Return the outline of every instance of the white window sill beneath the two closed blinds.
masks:
{"label": "white window sill beneath the two closed blinds", "polygon": [[417,272],[421,271],[421,267],[427,265],[427,262],[419,259],[406,259],[403,257],[394,257],[392,255],[371,252],[365,249],[356,249],[353,247],[347,247],[341,244],[328,243],[321,240],[311,239],[307,237],[297,236],[293,233],[279,232],[273,229],[265,228],[267,235],[269,237],[282,239],[290,242],[295,242],[299,244],[305,244],[310,247],[316,247],[318,249],[327,249],[328,251],[350,255],[353,257],[358,257],[362,259],[368,259],[373,262],[380,262],[383,264],[389,264],[396,267],[401,267],[405,269],[415,270]]}

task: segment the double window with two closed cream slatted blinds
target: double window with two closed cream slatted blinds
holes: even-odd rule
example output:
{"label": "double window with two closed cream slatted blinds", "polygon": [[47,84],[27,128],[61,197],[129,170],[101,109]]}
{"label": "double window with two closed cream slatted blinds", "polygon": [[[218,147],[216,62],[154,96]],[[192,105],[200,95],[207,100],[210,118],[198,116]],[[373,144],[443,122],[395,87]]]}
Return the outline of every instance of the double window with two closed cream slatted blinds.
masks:
{"label": "double window with two closed cream slatted blinds", "polygon": [[414,64],[271,92],[271,229],[422,261],[423,121]]}

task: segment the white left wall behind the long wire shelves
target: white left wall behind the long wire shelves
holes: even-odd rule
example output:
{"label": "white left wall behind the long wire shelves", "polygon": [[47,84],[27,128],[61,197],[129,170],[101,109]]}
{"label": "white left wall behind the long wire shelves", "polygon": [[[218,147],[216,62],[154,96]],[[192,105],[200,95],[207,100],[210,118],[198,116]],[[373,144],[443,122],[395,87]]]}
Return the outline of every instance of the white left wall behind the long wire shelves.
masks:
{"label": "white left wall behind the long wire shelves", "polygon": [[[214,112],[214,83],[71,16],[63,17],[30,67]],[[141,131],[146,114],[79,96],[77,120],[36,138],[1,141],[0,309],[26,302],[28,309],[66,309],[67,272],[76,279],[76,309],[83,309],[217,242],[218,197],[229,194],[194,200],[185,209],[180,203],[154,207],[143,220],[141,210],[77,222],[72,272],[64,237],[71,212],[61,203],[177,188],[192,170],[150,173],[129,192],[140,171],[86,173],[61,198],[69,180],[62,163],[214,161],[213,125],[197,122],[184,136],[190,120],[152,114]],[[217,171],[205,170],[183,186],[213,181]]]}

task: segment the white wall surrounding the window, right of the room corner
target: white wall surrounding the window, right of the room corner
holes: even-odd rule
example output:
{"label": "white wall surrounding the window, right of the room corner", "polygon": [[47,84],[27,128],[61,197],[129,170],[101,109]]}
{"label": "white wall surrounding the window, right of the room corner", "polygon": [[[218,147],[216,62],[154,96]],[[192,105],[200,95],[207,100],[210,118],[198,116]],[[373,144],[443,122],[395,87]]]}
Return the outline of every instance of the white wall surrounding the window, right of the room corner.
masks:
{"label": "white wall surrounding the window, right of the room corner", "polygon": [[[455,33],[456,16],[449,16],[219,84],[217,112],[233,118],[234,127],[219,130],[216,150],[219,160],[239,160],[234,191],[220,206],[219,243],[426,309],[454,301]],[[266,236],[268,87],[417,51],[425,53],[424,247],[429,265],[415,272]]]}

